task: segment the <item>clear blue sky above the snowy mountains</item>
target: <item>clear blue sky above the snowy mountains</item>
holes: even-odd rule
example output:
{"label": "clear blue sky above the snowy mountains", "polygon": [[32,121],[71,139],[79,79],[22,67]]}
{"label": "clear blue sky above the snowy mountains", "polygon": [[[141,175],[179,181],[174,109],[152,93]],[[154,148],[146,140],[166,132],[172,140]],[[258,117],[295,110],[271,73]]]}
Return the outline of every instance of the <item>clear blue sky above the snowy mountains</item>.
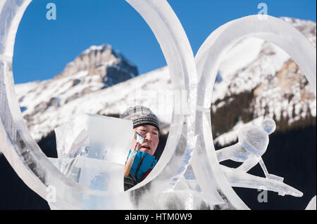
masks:
{"label": "clear blue sky above the snowy mountains", "polygon": [[[168,0],[182,22],[192,50],[220,25],[259,12],[316,22],[316,0]],[[47,20],[46,5],[56,5],[56,20]],[[15,84],[51,79],[89,46],[111,44],[135,63],[139,74],[166,65],[161,48],[142,17],[124,0],[33,0],[15,39]]]}

